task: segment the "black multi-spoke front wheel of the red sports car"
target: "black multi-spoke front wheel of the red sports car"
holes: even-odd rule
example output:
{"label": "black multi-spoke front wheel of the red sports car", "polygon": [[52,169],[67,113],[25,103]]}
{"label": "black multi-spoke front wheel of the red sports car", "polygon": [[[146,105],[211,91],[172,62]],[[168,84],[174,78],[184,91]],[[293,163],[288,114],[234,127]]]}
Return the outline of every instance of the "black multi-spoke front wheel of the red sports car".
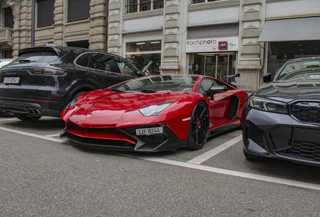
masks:
{"label": "black multi-spoke front wheel of the red sports car", "polygon": [[207,105],[200,101],[194,107],[190,119],[187,148],[198,150],[207,141],[209,132],[209,113]]}

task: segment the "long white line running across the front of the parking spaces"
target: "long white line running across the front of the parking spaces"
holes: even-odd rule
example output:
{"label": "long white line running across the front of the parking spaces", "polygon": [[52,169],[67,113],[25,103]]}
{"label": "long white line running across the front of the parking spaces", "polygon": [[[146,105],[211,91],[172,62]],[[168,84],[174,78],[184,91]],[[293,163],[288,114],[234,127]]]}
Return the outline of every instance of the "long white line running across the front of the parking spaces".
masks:
{"label": "long white line running across the front of the parking spaces", "polygon": [[[12,129],[3,128],[3,127],[0,127],[0,130],[9,131],[12,133],[22,134],[22,135],[31,136],[31,137],[36,137],[36,138],[40,138],[40,139],[50,140],[53,142],[70,144],[69,141],[55,139],[55,138],[46,137],[46,136],[40,136],[40,135],[32,134],[32,133],[26,133],[23,131],[17,131],[17,130],[12,130]],[[261,180],[261,181],[267,181],[267,182],[272,182],[272,183],[279,183],[279,184],[285,184],[285,185],[290,185],[290,186],[320,190],[320,185],[306,183],[306,182],[292,181],[292,180],[274,178],[274,177],[270,177],[270,176],[263,176],[263,175],[257,175],[257,174],[252,174],[252,173],[237,172],[237,171],[233,171],[233,170],[219,169],[219,168],[215,168],[215,167],[197,165],[197,164],[192,164],[192,163],[185,163],[185,162],[174,161],[174,160],[167,160],[167,159],[163,159],[163,158],[143,156],[143,155],[132,154],[132,153],[123,153],[123,152],[110,152],[110,153],[122,155],[122,156],[127,156],[127,157],[138,158],[138,159],[142,159],[142,160],[158,162],[158,163],[165,163],[165,164],[170,164],[170,165],[175,165],[175,166],[181,166],[181,167],[198,169],[198,170],[203,170],[203,171],[208,171],[208,172],[220,173],[220,174],[225,174],[225,175],[231,175],[231,176],[256,179],[256,180]]]}

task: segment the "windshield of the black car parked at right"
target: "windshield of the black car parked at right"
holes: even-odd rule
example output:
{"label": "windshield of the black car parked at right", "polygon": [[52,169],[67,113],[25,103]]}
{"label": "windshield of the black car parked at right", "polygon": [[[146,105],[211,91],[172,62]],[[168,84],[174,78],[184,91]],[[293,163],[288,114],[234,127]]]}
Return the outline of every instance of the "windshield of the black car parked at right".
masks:
{"label": "windshield of the black car parked at right", "polygon": [[319,60],[306,59],[289,62],[276,80],[314,80],[320,79]]}

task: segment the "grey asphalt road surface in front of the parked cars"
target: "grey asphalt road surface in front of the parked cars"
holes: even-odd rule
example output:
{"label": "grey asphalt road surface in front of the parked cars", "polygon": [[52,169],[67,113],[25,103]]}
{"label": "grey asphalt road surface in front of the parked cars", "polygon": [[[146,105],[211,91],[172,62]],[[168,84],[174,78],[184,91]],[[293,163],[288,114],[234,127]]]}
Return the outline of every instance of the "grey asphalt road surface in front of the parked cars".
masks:
{"label": "grey asphalt road surface in front of the parked cars", "polygon": [[241,131],[201,150],[98,152],[64,123],[0,118],[0,216],[319,216],[320,167],[247,160]]}

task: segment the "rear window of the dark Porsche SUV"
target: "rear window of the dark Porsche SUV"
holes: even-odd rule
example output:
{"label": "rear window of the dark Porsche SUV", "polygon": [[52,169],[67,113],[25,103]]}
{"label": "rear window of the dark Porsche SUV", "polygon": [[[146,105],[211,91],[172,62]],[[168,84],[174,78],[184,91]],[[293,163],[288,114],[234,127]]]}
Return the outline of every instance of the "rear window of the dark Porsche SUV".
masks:
{"label": "rear window of the dark Porsche SUV", "polygon": [[41,62],[41,63],[49,63],[58,60],[58,55],[52,51],[45,52],[30,52],[22,54],[20,57],[15,59],[13,63],[17,62]]}

